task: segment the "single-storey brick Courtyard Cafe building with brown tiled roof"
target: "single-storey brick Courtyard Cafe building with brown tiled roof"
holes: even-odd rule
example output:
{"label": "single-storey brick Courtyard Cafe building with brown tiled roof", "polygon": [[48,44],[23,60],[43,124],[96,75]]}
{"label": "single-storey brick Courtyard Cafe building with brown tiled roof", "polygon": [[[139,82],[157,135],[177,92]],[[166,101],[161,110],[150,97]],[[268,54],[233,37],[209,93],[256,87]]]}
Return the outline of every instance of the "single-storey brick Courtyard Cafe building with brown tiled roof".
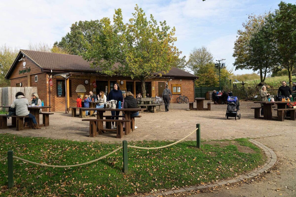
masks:
{"label": "single-storey brick Courtyard Cafe building with brown tiled roof", "polygon": [[[122,91],[131,91],[134,95],[141,92],[140,81],[99,74],[81,56],[39,51],[20,50],[5,78],[10,79],[11,87],[37,87],[44,105],[51,106],[51,111],[65,110],[66,113],[69,107],[76,106],[78,94],[104,91],[107,95],[116,82]],[[179,94],[193,101],[196,79],[197,76],[193,74],[172,68],[162,77],[148,79],[145,82],[146,93],[149,97],[161,96],[168,84],[173,93],[173,102],[176,102]]]}

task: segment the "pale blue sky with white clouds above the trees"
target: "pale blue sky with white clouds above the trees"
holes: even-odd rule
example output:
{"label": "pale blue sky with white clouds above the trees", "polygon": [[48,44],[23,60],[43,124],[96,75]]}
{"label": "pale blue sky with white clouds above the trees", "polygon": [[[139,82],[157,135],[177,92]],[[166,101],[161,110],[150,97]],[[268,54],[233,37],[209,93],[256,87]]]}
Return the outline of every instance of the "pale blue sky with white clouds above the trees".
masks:
{"label": "pale blue sky with white clouds above the trees", "polygon": [[[71,2],[71,3],[70,3]],[[295,1],[285,1],[295,4]],[[184,1],[1,1],[0,45],[28,48],[31,43],[52,45],[70,31],[79,20],[112,18],[114,9],[121,8],[124,20],[131,17],[135,4],[157,21],[166,20],[176,27],[176,46],[183,55],[194,47],[206,46],[215,59],[226,58],[233,68],[232,57],[237,30],[242,28],[248,14],[262,14],[278,8],[276,0],[184,0]],[[234,71],[235,74],[251,70]]]}

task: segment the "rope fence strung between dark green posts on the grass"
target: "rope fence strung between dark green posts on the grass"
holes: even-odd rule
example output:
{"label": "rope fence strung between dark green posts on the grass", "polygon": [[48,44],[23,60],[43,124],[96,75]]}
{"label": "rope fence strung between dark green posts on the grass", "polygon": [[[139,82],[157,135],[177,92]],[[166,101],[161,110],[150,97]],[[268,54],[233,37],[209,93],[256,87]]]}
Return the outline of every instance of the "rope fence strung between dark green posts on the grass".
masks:
{"label": "rope fence strung between dark green posts on the grass", "polygon": [[38,165],[38,166],[42,166],[42,167],[53,167],[53,168],[70,168],[70,167],[79,167],[79,166],[83,166],[83,165],[89,165],[91,163],[97,162],[101,159],[104,159],[106,157],[108,157],[110,154],[113,154],[115,152],[117,152],[120,149],[123,149],[123,172],[128,172],[128,147],[130,148],[135,148],[135,149],[144,149],[144,150],[152,150],[152,149],[163,149],[163,148],[167,148],[169,146],[173,146],[175,144],[180,143],[181,141],[185,140],[186,138],[188,138],[189,136],[191,136],[194,132],[196,132],[196,147],[197,148],[201,148],[201,142],[200,142],[200,124],[196,124],[196,129],[194,131],[192,131],[191,133],[189,133],[189,135],[185,136],[184,138],[172,143],[172,144],[168,144],[166,146],[159,146],[159,147],[140,147],[140,146],[130,146],[128,145],[128,142],[126,140],[123,141],[123,145],[118,147],[117,149],[114,149],[112,152],[105,154],[102,157],[99,157],[97,159],[94,159],[92,161],[89,162],[85,162],[85,163],[81,163],[81,164],[75,164],[75,165],[48,165],[46,163],[37,163],[37,162],[32,162],[29,161],[27,159],[22,159],[20,157],[17,156],[13,156],[13,151],[10,150],[7,153],[7,157],[3,157],[2,159],[0,159],[1,161],[4,161],[7,159],[7,164],[8,164],[8,188],[12,188],[13,187],[13,159],[18,159],[20,161],[23,162],[27,162],[30,164],[34,164],[34,165]]}

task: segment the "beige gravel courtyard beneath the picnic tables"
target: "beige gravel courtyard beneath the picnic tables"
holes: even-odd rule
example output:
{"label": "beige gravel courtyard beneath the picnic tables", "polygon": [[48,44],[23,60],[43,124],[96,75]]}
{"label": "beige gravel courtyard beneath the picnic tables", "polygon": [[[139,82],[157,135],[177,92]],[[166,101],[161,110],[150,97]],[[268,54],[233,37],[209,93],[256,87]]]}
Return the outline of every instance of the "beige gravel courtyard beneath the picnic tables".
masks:
{"label": "beige gravel courtyard beneath the picnic tables", "polygon": [[[205,108],[206,103],[204,102]],[[136,118],[135,121],[138,128],[122,139],[117,139],[115,132],[89,138],[89,122],[81,121],[82,119],[78,117],[71,117],[71,113],[65,114],[65,112],[54,112],[54,115],[50,115],[50,125],[39,130],[15,131],[15,128],[11,128],[0,130],[0,133],[53,139],[119,142],[122,140],[178,140],[191,133],[197,123],[201,124],[202,139],[256,138],[289,133],[295,129],[295,121],[279,122],[254,119],[254,110],[250,108],[255,106],[260,105],[241,101],[239,111],[241,119],[235,121],[234,118],[225,120],[226,105],[214,105],[212,102],[211,111],[187,111],[189,104],[173,103],[173,110],[170,106],[169,112],[165,112],[164,106],[162,106],[161,112],[141,113],[142,117]],[[105,115],[111,114],[106,112]],[[186,140],[194,139],[196,136],[192,135]]]}

